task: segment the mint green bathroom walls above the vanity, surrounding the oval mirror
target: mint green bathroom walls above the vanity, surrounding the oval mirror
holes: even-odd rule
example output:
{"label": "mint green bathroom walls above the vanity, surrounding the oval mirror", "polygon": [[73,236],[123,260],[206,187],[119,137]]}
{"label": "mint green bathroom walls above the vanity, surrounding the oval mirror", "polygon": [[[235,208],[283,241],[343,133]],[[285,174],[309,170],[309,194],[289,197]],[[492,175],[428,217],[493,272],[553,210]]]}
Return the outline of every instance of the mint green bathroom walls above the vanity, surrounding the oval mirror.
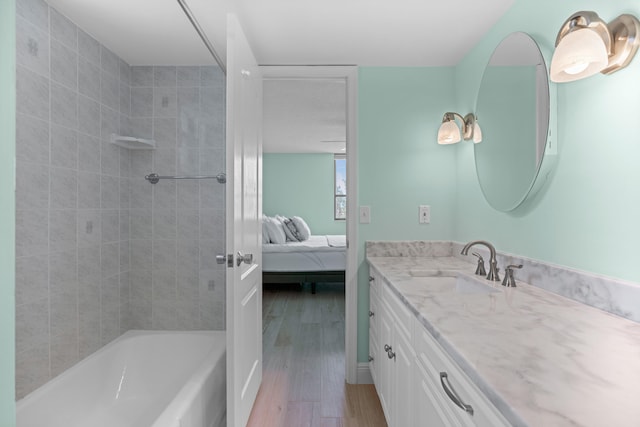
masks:
{"label": "mint green bathroom walls above the vanity, surrounding the oval mirror", "polygon": [[[474,111],[482,71],[506,35],[529,33],[550,61],[558,29],[578,10],[607,21],[640,16],[637,0],[517,0],[455,69],[360,69],[358,205],[371,206],[372,223],[358,226],[359,362],[368,355],[366,240],[487,239],[500,251],[640,282],[640,54],[612,75],[556,85],[556,170],[527,208],[487,204],[473,144],[435,144],[445,111]],[[421,203],[432,207],[426,227],[417,224]]]}

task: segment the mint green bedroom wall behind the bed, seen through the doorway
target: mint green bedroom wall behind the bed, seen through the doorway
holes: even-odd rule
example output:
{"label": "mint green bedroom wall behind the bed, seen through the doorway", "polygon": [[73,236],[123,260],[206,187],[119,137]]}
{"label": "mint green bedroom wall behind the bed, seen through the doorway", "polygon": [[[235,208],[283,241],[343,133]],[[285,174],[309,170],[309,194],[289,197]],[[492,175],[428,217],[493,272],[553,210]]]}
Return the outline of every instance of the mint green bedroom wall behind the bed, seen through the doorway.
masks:
{"label": "mint green bedroom wall behind the bed, seen through the doorway", "polygon": [[265,153],[262,160],[265,215],[302,217],[313,234],[345,234],[333,219],[333,154]]}

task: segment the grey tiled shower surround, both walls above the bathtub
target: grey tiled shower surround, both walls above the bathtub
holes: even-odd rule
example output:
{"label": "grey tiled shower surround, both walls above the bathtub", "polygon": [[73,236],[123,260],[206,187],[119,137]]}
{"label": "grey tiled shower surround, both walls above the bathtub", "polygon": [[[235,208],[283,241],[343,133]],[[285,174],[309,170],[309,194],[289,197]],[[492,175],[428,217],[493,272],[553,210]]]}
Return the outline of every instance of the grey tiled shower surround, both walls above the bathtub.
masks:
{"label": "grey tiled shower surround, both walls above the bathtub", "polygon": [[[17,1],[16,396],[129,329],[224,329],[224,75],[130,67]],[[112,145],[111,134],[157,149]]]}

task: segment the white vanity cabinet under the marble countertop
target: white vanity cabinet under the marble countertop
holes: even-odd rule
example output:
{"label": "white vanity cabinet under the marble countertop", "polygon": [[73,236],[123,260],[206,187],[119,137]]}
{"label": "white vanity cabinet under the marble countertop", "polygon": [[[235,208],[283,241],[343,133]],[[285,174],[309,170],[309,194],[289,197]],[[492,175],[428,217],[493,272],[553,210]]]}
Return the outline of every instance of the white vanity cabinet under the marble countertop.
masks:
{"label": "white vanity cabinet under the marble countertop", "polygon": [[509,426],[375,270],[371,272],[370,369],[389,427]]}

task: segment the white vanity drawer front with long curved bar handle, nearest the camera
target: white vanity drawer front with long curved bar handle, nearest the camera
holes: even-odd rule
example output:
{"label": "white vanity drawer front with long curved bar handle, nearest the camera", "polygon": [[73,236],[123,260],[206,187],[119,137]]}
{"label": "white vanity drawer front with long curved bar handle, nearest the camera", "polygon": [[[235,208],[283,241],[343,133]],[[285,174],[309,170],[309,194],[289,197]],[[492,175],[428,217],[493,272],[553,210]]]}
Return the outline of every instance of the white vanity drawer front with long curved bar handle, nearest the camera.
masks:
{"label": "white vanity drawer front with long curved bar handle, nearest the camera", "polygon": [[[414,344],[419,362],[441,392],[445,405],[448,405],[462,425],[476,427],[510,425],[417,319]],[[442,378],[442,373],[446,374],[445,378]],[[445,387],[450,393],[457,394],[460,403],[469,405],[473,414],[457,406],[453,400],[455,396],[448,396]]]}

